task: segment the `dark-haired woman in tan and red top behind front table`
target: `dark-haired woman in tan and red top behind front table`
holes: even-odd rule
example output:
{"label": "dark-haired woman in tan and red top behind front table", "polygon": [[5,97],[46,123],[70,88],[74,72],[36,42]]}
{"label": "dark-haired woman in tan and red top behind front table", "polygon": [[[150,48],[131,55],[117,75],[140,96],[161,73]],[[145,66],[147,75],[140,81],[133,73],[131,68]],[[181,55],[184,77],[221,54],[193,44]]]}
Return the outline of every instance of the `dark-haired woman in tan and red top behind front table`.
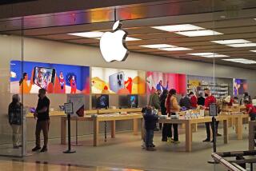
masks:
{"label": "dark-haired woman in tan and red top behind front table", "polygon": [[[170,89],[168,96],[166,97],[166,110],[168,115],[176,115],[179,112],[180,106],[178,105],[177,97],[176,97],[176,89]],[[171,127],[174,127],[174,139],[172,139],[172,131]],[[170,142],[174,142],[178,144],[178,124],[170,124]]]}

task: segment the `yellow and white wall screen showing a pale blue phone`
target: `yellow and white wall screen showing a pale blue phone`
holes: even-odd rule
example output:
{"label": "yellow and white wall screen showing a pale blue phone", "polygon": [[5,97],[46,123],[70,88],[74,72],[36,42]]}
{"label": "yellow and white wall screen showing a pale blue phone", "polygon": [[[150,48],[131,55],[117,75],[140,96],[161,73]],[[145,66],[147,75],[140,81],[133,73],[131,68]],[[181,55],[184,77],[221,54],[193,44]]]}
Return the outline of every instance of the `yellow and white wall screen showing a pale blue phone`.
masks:
{"label": "yellow and white wall screen showing a pale blue phone", "polygon": [[92,67],[91,93],[146,93],[145,72]]}

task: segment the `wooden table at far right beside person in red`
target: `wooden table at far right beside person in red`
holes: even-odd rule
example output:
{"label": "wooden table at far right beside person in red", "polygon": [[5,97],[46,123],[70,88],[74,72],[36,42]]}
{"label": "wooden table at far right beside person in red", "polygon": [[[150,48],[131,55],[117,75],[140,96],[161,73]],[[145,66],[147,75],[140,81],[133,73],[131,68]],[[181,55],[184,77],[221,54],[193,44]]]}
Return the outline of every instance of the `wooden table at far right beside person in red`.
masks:
{"label": "wooden table at far right beside person in red", "polygon": [[243,113],[230,113],[230,114],[221,114],[219,116],[226,117],[227,120],[234,120],[235,121],[235,129],[238,136],[238,140],[242,140],[242,121],[246,119],[247,121],[250,120],[249,114]]}

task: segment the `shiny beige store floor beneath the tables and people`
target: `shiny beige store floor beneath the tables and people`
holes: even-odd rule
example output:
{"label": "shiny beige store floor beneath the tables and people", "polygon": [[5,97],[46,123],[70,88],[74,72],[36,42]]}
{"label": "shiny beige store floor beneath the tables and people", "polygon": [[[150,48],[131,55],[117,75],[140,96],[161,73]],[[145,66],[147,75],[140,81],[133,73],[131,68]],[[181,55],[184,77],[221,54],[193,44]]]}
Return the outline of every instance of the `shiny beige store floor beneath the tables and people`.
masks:
{"label": "shiny beige store floor beneath the tables and people", "polygon": [[[219,131],[222,132],[222,129]],[[248,130],[245,130],[244,139],[236,140],[234,130],[230,128],[230,143],[225,145],[223,138],[218,137],[218,152],[248,149],[246,139]],[[0,170],[175,170],[175,171],[205,171],[205,170],[225,170],[221,165],[210,165],[212,144],[203,143],[206,136],[205,129],[198,129],[193,135],[193,152],[184,152],[184,134],[180,135],[181,143],[178,145],[166,144],[161,141],[161,133],[155,133],[154,143],[157,151],[148,152],[141,148],[142,141],[139,136],[131,133],[117,133],[116,138],[104,142],[103,135],[98,147],[92,146],[92,136],[79,137],[81,146],[73,146],[76,153],[64,154],[66,145],[59,145],[60,140],[50,141],[47,153],[32,153],[22,159],[10,157],[0,157]],[[28,144],[28,149],[34,146]],[[0,146],[1,148],[1,146]],[[31,153],[31,151],[29,151]],[[43,164],[44,162],[48,163]],[[72,164],[72,166],[66,166]],[[29,168],[29,169],[27,169]],[[128,169],[118,169],[128,168]]]}

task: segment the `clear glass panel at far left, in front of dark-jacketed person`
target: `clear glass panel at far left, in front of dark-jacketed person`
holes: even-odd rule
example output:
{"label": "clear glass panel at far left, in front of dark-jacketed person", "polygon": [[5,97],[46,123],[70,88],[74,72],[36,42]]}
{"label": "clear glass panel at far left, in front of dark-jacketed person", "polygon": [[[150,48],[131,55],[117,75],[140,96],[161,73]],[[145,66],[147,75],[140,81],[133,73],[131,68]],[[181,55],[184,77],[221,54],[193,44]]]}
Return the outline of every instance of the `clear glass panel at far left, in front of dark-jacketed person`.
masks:
{"label": "clear glass panel at far left, in front of dark-jacketed person", "polygon": [[22,35],[22,18],[0,20],[0,155],[21,157],[23,97],[19,89],[10,85],[10,81],[19,85],[17,78],[22,74],[22,65],[10,72],[12,61],[22,64],[22,36],[17,34]]}

